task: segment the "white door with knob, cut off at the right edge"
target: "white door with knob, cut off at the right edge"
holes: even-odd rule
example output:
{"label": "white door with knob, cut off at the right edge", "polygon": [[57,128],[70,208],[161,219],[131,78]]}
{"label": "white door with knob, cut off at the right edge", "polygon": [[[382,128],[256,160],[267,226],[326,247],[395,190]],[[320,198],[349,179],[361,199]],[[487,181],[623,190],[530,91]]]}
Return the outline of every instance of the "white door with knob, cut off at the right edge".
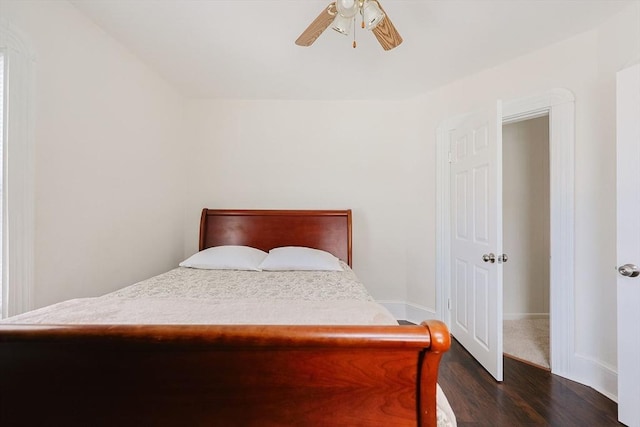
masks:
{"label": "white door with knob, cut off at the right edge", "polygon": [[618,73],[617,133],[618,420],[640,427],[640,65]]}

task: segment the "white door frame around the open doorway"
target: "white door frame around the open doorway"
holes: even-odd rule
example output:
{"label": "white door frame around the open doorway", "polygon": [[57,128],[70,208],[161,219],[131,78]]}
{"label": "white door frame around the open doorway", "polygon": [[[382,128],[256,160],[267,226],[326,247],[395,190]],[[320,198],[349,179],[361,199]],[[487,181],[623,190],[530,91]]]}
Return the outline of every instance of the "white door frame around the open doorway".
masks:
{"label": "white door frame around the open doorway", "polygon": [[[549,116],[550,361],[551,371],[571,373],[574,354],[575,97],[567,89],[503,103],[503,124]],[[436,139],[436,313],[451,324],[451,199],[447,135],[457,118],[444,120]]]}

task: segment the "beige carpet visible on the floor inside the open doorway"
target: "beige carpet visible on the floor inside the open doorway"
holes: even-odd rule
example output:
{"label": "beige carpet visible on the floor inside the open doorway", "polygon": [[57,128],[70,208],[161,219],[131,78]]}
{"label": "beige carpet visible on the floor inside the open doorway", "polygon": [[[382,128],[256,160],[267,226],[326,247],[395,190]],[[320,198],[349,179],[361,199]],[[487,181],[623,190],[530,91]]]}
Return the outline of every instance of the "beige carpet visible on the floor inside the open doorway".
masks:
{"label": "beige carpet visible on the floor inside the open doorway", "polygon": [[505,320],[504,353],[549,369],[549,319]]}

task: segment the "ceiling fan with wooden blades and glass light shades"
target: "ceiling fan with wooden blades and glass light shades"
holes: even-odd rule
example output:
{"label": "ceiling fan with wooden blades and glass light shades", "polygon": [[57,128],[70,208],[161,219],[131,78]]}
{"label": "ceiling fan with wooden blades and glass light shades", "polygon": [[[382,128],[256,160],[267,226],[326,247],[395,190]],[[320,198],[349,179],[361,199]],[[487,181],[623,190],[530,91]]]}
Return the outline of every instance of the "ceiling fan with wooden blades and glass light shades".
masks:
{"label": "ceiling fan with wooden blades and glass light shades", "polygon": [[[359,15],[359,16],[358,16]],[[393,26],[389,15],[377,0],[336,0],[331,2],[318,17],[300,34],[298,46],[311,46],[320,34],[331,25],[337,32],[349,35],[352,24],[362,18],[362,28],[373,31],[384,50],[391,50],[402,43],[402,37]],[[354,38],[353,47],[356,47]]]}

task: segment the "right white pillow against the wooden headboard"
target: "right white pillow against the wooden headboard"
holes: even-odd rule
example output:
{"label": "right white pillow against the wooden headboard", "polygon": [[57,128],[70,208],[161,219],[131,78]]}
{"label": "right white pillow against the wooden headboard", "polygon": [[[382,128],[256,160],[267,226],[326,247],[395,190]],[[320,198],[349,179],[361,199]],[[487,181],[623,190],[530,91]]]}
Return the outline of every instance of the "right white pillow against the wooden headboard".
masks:
{"label": "right white pillow against the wooden headboard", "polygon": [[261,270],[342,271],[340,260],[329,252],[302,246],[274,248],[260,264]]}

